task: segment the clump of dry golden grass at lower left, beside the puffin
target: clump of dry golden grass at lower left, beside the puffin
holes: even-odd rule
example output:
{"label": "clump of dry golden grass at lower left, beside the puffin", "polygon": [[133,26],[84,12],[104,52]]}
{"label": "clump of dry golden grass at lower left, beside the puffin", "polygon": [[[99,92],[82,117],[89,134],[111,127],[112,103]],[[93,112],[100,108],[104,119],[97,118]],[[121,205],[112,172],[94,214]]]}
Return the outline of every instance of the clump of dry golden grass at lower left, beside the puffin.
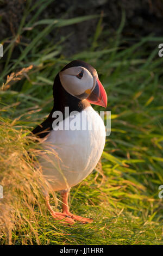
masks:
{"label": "clump of dry golden grass at lower left, beside the puffin", "polygon": [[3,123],[1,119],[0,125],[0,181],[4,191],[0,199],[0,239],[4,244],[15,243],[12,231],[16,229],[21,230],[22,245],[33,244],[30,235],[27,236],[30,230],[39,245],[37,219],[47,214],[42,190],[51,191],[51,187],[43,178],[37,161],[41,149],[38,144],[36,148],[36,138],[26,136],[27,130],[16,129],[16,121]]}

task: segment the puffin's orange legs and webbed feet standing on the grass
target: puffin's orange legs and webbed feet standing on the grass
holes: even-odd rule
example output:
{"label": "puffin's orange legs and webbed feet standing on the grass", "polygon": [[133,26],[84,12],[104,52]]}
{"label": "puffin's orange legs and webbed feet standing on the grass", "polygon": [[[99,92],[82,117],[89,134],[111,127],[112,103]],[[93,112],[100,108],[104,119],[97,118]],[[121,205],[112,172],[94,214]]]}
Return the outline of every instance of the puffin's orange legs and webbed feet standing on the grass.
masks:
{"label": "puffin's orange legs and webbed feet standing on the grass", "polygon": [[46,196],[46,204],[47,204],[47,208],[48,210],[51,212],[53,218],[55,220],[62,220],[62,223],[75,223],[75,221],[80,221],[83,223],[91,223],[93,220],[90,218],[84,218],[84,217],[80,217],[78,215],[73,215],[71,214],[71,212],[69,211],[69,207],[68,207],[68,193],[69,191],[61,191],[62,194],[62,212],[55,212],[53,211],[51,205],[49,204],[49,196]]}

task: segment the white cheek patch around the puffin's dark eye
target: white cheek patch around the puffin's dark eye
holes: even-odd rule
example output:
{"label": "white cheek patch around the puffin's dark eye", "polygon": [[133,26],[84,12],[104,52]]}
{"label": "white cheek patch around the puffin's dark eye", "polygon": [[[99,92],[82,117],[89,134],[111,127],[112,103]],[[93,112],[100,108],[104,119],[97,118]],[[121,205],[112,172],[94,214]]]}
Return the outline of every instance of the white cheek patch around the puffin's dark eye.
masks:
{"label": "white cheek patch around the puffin's dark eye", "polygon": [[59,77],[62,87],[64,87],[66,92],[79,97],[79,99],[81,94],[84,94],[86,99],[96,84],[96,77],[93,77],[83,66],[65,69],[59,73]]}

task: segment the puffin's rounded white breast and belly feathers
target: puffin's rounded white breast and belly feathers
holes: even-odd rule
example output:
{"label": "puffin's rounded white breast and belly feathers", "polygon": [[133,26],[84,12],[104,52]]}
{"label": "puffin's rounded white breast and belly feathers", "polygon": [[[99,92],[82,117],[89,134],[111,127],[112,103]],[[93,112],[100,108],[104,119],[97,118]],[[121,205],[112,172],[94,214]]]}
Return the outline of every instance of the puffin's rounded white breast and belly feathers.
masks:
{"label": "puffin's rounded white breast and belly feathers", "polygon": [[[75,186],[86,178],[96,167],[104,149],[105,126],[92,107],[78,113],[76,119],[66,118],[64,127],[69,123],[72,129],[74,122],[71,121],[74,120],[77,129],[83,130],[52,130],[43,142],[43,148],[53,151],[46,159],[40,160],[43,174],[51,179],[55,191]],[[89,127],[85,126],[84,120]]]}

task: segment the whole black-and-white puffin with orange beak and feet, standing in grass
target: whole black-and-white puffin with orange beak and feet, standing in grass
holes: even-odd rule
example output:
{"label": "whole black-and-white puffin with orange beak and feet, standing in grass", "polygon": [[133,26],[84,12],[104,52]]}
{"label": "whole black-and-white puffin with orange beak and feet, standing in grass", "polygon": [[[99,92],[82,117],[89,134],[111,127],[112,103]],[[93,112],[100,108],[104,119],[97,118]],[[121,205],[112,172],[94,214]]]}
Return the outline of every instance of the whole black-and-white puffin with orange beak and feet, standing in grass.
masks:
{"label": "whole black-and-white puffin with orange beak and feet, standing in grass", "polygon": [[[74,215],[68,194],[95,169],[105,145],[105,125],[91,104],[104,108],[107,95],[95,68],[83,60],[73,60],[57,74],[53,84],[53,108],[47,119],[32,131],[40,137],[45,155],[39,159],[43,175],[62,197],[62,212],[48,210],[54,220],[64,223],[91,223],[92,218]],[[51,153],[51,154],[49,154]]]}

